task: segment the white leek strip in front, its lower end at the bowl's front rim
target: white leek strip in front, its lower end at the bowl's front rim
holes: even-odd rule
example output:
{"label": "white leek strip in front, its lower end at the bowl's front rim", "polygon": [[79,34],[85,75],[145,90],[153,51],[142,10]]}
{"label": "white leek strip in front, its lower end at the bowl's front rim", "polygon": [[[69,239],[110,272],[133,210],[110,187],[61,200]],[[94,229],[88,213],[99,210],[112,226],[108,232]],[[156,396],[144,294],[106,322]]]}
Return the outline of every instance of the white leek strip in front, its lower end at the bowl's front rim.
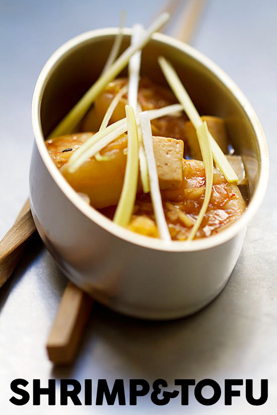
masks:
{"label": "white leek strip in front, its lower end at the bowl's front rim", "polygon": [[150,194],[155,213],[155,218],[160,237],[165,241],[170,241],[170,233],[165,219],[162,197],[159,187],[159,178],[157,165],[153,149],[153,136],[150,124],[150,118],[147,111],[140,114],[141,128],[143,133],[144,147],[148,163],[148,172],[150,178]]}

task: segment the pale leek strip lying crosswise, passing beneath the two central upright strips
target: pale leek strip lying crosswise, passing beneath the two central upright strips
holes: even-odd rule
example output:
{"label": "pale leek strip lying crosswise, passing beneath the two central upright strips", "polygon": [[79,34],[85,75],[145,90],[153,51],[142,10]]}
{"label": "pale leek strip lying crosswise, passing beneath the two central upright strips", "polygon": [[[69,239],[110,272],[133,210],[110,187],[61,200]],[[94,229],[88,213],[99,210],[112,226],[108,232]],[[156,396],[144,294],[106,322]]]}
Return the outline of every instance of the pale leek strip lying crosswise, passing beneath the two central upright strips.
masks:
{"label": "pale leek strip lying crosswise, passing beneath the two central upright strips", "polygon": [[[165,115],[174,114],[182,110],[181,105],[173,104],[157,110],[149,110],[151,120],[164,117]],[[140,123],[140,117],[136,116],[136,124]],[[116,121],[102,131],[98,131],[91,136],[84,144],[82,144],[70,157],[66,163],[69,173],[76,172],[81,165],[90,157],[94,156],[98,151],[102,150],[106,145],[115,140],[121,134],[127,131],[126,118]]]}

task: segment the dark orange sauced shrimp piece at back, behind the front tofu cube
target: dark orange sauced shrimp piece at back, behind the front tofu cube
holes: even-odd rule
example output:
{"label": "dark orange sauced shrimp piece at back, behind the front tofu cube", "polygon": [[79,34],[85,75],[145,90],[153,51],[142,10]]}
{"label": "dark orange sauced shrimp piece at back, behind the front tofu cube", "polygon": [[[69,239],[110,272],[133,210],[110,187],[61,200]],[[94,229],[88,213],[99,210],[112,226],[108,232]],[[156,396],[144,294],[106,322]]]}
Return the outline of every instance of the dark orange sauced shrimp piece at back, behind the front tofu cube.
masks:
{"label": "dark orange sauced shrimp piece at back, behind the front tofu cube", "polygon": [[[94,106],[88,112],[81,124],[82,131],[91,131],[95,126],[99,128],[102,119],[115,95],[126,84],[127,78],[117,78],[110,82],[105,91],[96,99]],[[149,78],[142,78],[138,87],[138,102],[143,111],[153,110],[165,107],[167,105],[175,104],[176,98],[172,92],[160,85],[155,84]],[[124,95],[113,115],[110,123],[114,123],[125,117],[125,105],[127,104],[127,94]],[[176,117],[168,115],[159,119],[151,121],[152,132],[155,136],[171,137],[178,140],[183,140],[185,143],[185,121],[187,117],[181,114]],[[187,152],[186,147],[184,148]]]}

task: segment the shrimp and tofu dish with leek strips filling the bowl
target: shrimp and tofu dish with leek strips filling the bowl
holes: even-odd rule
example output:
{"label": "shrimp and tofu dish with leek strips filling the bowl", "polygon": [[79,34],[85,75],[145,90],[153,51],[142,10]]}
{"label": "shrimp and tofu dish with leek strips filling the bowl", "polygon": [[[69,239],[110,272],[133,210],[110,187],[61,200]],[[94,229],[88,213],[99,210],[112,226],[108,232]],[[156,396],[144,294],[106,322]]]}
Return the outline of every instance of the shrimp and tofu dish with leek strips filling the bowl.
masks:
{"label": "shrimp and tofu dish with leek strips filling the bowl", "polygon": [[46,140],[47,150],[87,203],[127,229],[164,240],[214,235],[246,209],[239,189],[245,171],[228,151],[225,121],[199,116],[164,58],[170,88],[140,77],[139,48],[130,48],[129,76],[112,72],[121,55],[98,79],[102,85],[106,76],[105,85],[87,93],[89,108],[81,100]]}

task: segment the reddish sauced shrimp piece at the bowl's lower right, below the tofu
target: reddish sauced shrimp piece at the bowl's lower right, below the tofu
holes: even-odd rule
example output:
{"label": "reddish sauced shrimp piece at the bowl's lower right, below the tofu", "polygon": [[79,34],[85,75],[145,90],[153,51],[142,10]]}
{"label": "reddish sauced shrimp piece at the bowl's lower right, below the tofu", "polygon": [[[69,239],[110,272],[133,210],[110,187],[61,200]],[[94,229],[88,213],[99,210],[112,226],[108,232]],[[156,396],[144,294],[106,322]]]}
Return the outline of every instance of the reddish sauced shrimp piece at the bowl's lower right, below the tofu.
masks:
{"label": "reddish sauced shrimp piece at the bowl's lower right, below the tofu", "polygon": [[[199,160],[183,160],[183,183],[178,190],[165,191],[164,198],[173,207],[166,205],[166,215],[170,212],[169,228],[173,239],[185,239],[189,227],[178,217],[183,212],[193,222],[201,209],[205,193],[205,172],[203,162]],[[196,237],[210,236],[218,233],[234,220],[238,219],[246,209],[245,201],[237,185],[228,183],[222,173],[214,169],[212,196]],[[173,214],[176,219],[173,220]],[[182,223],[181,223],[182,222]]]}

